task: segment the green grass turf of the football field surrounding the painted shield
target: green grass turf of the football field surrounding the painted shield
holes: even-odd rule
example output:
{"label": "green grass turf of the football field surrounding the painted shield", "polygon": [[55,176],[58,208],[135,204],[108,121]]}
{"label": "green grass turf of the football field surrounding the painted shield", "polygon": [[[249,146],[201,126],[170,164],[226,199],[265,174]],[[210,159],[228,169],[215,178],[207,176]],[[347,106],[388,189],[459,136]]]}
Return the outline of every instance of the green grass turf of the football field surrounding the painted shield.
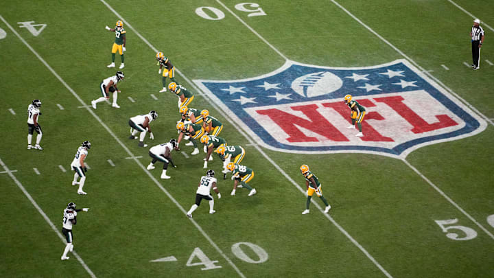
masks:
{"label": "green grass turf of the football field surrounding the painted shield", "polygon": [[[283,58],[239,23],[216,1],[168,4],[162,1],[110,1],[126,20],[150,43],[165,51],[174,65],[188,78],[235,79],[268,73],[283,65]],[[353,67],[376,65],[401,58],[379,38],[365,30],[330,1],[269,1],[261,3],[268,16],[248,17],[233,8],[235,1],[224,1],[259,34],[285,56],[314,65]],[[493,117],[489,88],[493,74],[489,67],[468,70],[470,20],[446,1],[341,1],[355,16],[390,40],[410,58],[471,102],[488,117]],[[225,12],[222,21],[206,21],[193,11],[212,6]],[[490,4],[486,5],[491,8]],[[117,17],[99,1],[94,2],[3,2],[1,15],[39,52],[86,104],[99,97],[98,84],[114,73],[110,62],[113,35],[104,25]],[[466,8],[466,7],[464,7]],[[488,10],[488,9],[487,9]],[[42,12],[41,12],[42,11]],[[91,16],[88,17],[87,15]],[[443,19],[438,20],[438,15]],[[474,12],[482,14],[482,11]],[[479,15],[480,16],[480,15]],[[488,16],[486,14],[486,16]],[[38,37],[16,27],[16,22],[36,20],[47,28]],[[434,24],[432,24],[434,23]],[[398,27],[397,33],[390,26]],[[438,38],[423,32],[433,27]],[[0,111],[5,132],[0,150],[2,159],[52,222],[61,229],[64,205],[74,201],[78,207],[91,207],[80,213],[74,229],[75,248],[97,277],[235,277],[225,259],[202,237],[176,205],[165,196],[137,163],[104,128],[47,71],[32,53],[0,23],[8,36],[0,40],[4,69],[0,72]],[[351,34],[347,32],[351,30]],[[115,132],[132,154],[150,158],[147,150],[129,141],[129,117],[158,111],[153,123],[161,143],[176,137],[174,131],[176,98],[158,93],[161,76],[157,74],[153,51],[128,30],[126,80],[121,84],[119,110],[99,104],[95,113]],[[458,31],[466,30],[466,31]],[[489,31],[487,34],[489,35]],[[489,45],[483,56],[489,57]],[[490,58],[494,60],[493,58]],[[450,71],[444,71],[441,64]],[[119,57],[117,56],[117,65]],[[471,79],[478,78],[478,89],[471,90]],[[187,88],[182,76],[179,82]],[[159,97],[153,100],[150,93]],[[137,102],[127,100],[131,95]],[[34,98],[43,101],[40,124],[45,136],[43,152],[25,150],[25,108]],[[56,104],[64,106],[60,111]],[[200,96],[193,106],[217,111]],[[13,108],[17,115],[11,115]],[[220,118],[221,119],[221,118]],[[220,136],[230,144],[246,148],[243,164],[256,176],[252,186],[258,194],[247,197],[239,189],[229,196],[232,181],[220,180],[224,196],[216,200],[217,214],[207,214],[207,202],[194,213],[194,219],[213,238],[226,256],[247,277],[383,277],[372,262],[314,205],[302,217],[305,197],[283,177],[226,119]],[[491,233],[486,216],[494,214],[492,127],[480,135],[427,146],[412,152],[408,161],[455,200],[460,207]],[[72,173],[62,173],[58,165],[69,168],[78,145],[89,139],[93,148],[86,160],[91,166],[86,187],[88,196],[78,196],[71,187]],[[147,139],[148,143],[150,142]],[[182,146],[186,152],[190,147]],[[394,277],[486,277],[493,272],[493,239],[440,196],[403,162],[368,154],[298,155],[266,151],[301,187],[298,172],[302,163],[318,174],[323,191],[333,209],[330,215]],[[111,159],[115,167],[106,160]],[[175,153],[176,170],[169,170],[171,181],[163,187],[186,210],[193,203],[196,183],[203,174],[202,161],[185,159]],[[220,161],[210,163],[216,172]],[[32,167],[42,173],[36,176]],[[159,178],[160,167],[152,171]],[[75,259],[60,262],[63,245],[8,176],[0,174],[1,205],[0,275],[3,277],[65,276],[84,277]],[[315,198],[318,199],[318,198]],[[322,204],[320,200],[315,200]],[[478,237],[466,242],[449,240],[434,220],[458,218],[458,224],[475,229]],[[460,234],[460,236],[462,236]],[[231,251],[235,242],[252,242],[269,254],[267,262],[249,264]],[[200,247],[222,268],[201,271],[200,266],[185,266],[194,248]],[[255,254],[244,248],[255,258]],[[151,259],[174,255],[178,262],[150,263]]]}

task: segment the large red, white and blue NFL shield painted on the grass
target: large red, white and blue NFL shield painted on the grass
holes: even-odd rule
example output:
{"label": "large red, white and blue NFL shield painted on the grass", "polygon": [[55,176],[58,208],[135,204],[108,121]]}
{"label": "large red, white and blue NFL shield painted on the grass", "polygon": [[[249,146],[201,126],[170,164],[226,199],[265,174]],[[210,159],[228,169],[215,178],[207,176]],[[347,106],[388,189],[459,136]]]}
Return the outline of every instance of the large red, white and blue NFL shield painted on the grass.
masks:
{"label": "large red, white and blue NFL shield painted on the grass", "polygon": [[[244,80],[194,80],[265,148],[281,152],[364,152],[406,157],[468,137],[486,122],[407,60],[358,68],[287,61]],[[346,94],[366,108],[364,137],[351,124]]]}

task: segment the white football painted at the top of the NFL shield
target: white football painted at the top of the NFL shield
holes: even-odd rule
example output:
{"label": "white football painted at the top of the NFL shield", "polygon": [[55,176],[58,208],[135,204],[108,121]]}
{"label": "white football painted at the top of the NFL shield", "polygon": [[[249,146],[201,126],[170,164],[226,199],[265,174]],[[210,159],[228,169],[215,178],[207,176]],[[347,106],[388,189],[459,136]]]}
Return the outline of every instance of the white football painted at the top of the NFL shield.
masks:
{"label": "white football painted at the top of the NFL shield", "polygon": [[310,73],[296,78],[292,82],[292,89],[303,97],[318,97],[333,93],[341,88],[343,81],[329,71]]}

